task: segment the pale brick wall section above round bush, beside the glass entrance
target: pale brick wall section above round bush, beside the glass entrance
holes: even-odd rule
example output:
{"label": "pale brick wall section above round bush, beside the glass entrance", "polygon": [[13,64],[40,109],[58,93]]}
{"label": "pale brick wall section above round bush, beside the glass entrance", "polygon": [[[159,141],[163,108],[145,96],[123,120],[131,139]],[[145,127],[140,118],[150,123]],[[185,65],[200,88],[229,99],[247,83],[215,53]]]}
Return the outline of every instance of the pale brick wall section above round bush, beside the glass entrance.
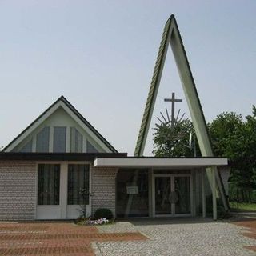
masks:
{"label": "pale brick wall section above round bush, beside the glass entrance", "polygon": [[117,173],[117,168],[92,168],[92,214],[98,208],[103,207],[110,209],[115,216],[115,178]]}

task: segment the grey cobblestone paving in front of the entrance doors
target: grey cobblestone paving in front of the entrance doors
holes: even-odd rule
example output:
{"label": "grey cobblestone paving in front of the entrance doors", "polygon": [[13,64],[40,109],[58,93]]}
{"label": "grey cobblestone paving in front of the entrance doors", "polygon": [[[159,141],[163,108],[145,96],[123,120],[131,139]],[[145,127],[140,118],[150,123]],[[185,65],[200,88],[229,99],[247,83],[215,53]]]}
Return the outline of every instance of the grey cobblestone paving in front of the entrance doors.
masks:
{"label": "grey cobblestone paving in front of the entrance doors", "polygon": [[230,222],[213,222],[202,218],[138,220],[98,228],[107,233],[139,231],[150,239],[136,242],[95,242],[96,255],[255,256],[255,252],[246,248],[256,246],[256,240],[243,236],[241,233],[246,232],[246,229]]}

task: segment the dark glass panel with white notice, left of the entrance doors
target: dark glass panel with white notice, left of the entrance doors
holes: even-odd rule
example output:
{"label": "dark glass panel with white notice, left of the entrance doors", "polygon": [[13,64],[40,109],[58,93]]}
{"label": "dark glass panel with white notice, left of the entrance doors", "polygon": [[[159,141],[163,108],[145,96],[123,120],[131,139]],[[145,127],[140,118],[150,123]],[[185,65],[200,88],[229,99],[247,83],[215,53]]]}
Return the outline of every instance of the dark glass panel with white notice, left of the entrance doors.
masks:
{"label": "dark glass panel with white notice, left of the entrance doors", "polygon": [[148,170],[118,170],[117,216],[149,216]]}

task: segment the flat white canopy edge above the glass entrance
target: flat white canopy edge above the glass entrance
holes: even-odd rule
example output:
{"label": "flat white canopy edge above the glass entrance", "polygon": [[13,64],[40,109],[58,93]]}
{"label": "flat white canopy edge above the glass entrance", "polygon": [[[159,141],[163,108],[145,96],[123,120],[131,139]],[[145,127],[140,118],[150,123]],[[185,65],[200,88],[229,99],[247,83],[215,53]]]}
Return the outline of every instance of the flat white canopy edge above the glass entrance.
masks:
{"label": "flat white canopy edge above the glass entrance", "polygon": [[96,158],[95,167],[123,168],[200,168],[227,166],[227,158]]}

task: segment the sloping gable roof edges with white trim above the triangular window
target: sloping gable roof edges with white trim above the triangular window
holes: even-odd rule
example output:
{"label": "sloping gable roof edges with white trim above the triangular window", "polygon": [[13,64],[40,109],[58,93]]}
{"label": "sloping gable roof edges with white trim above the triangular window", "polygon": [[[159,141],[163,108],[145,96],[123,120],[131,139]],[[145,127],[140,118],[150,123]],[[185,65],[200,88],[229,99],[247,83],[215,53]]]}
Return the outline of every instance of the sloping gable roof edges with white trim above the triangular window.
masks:
{"label": "sloping gable roof edges with white trim above the triangular window", "polygon": [[118,153],[118,150],[116,150],[114,146],[112,146],[110,142],[108,142],[106,138],[104,138],[102,134],[100,134],[98,130],[96,130],[94,126],[92,126],[90,122],[88,122],[86,118],[84,118],[82,114],[80,114],[78,110],[76,110],[75,107],[72,106],[72,104],[64,96],[58,98],[56,102],[54,102],[42,114],[40,114],[38,118],[36,118],[34,122],[30,124],[30,126],[27,126],[25,130],[18,134],[18,136],[14,138],[14,140],[10,142],[2,151],[10,151],[14,149],[14,147],[17,146],[19,142],[22,142],[22,140],[26,138],[26,136],[30,134],[30,132],[32,132],[36,127],[38,127],[38,125],[41,124],[43,120],[48,118],[50,114],[53,114],[59,106],[62,106],[66,111],[68,111],[68,114],[75,118],[76,121],[80,122],[82,126],[86,126],[90,131],[90,135],[98,138],[100,142],[102,142],[102,145],[110,150],[110,152]]}

